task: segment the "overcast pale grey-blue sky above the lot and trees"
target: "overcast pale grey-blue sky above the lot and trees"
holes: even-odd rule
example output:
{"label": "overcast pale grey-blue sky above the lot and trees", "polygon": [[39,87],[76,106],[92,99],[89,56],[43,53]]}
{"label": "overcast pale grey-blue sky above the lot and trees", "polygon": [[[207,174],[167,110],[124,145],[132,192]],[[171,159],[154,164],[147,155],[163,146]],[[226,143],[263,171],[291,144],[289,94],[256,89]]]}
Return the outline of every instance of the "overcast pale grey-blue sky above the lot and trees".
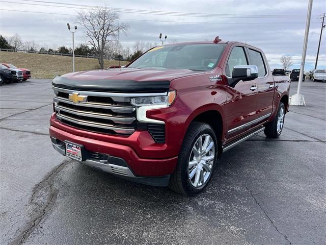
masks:
{"label": "overcast pale grey-blue sky above the lot and trees", "polygon": [[[151,11],[169,11],[222,15],[253,15],[250,18],[248,18],[249,16],[193,17],[119,12],[120,21],[128,23],[130,27],[126,35],[121,35],[120,40],[124,46],[132,47],[135,41],[159,43],[159,33],[168,35],[167,42],[171,39],[177,39],[179,42],[213,40],[215,36],[220,36],[222,40],[247,42],[261,48],[265,52],[271,68],[280,67],[279,59],[282,54],[293,56],[294,65],[291,67],[292,69],[300,68],[306,25],[306,18],[304,16],[307,15],[308,0],[44,0],[42,2],[0,0],[0,34],[5,37],[10,37],[18,33],[24,41],[35,40],[40,45],[46,44],[49,47],[52,45],[72,46],[71,34],[67,30],[66,23],[74,24],[76,11],[80,10],[78,8],[81,6],[60,5],[65,6],[63,8],[55,7],[59,5],[54,3],[94,6],[106,4],[107,7],[111,8],[149,10],[148,13],[153,13]],[[33,13],[18,11],[32,11]],[[305,70],[312,69],[315,63],[321,28],[321,20],[317,19],[316,16],[324,12],[326,12],[326,1],[314,0]],[[270,18],[270,15],[277,16]],[[289,18],[288,15],[292,15],[292,17]],[[296,15],[296,17],[293,15]],[[319,68],[326,68],[325,33],[326,30],[324,29],[318,60]],[[78,27],[77,33],[75,34],[75,43],[79,44],[82,42],[85,42],[85,35],[83,29]]]}

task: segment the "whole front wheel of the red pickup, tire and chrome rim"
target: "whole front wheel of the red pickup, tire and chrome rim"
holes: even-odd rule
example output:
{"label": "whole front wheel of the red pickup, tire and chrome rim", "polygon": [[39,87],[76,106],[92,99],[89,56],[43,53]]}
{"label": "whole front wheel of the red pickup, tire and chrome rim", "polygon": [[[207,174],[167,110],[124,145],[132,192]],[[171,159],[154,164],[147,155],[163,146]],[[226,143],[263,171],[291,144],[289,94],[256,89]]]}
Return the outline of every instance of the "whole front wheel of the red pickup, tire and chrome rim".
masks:
{"label": "whole front wheel of the red pickup, tire and chrome rim", "polygon": [[204,122],[192,122],[183,140],[178,163],[169,187],[183,195],[204,190],[211,179],[218,156],[218,141]]}

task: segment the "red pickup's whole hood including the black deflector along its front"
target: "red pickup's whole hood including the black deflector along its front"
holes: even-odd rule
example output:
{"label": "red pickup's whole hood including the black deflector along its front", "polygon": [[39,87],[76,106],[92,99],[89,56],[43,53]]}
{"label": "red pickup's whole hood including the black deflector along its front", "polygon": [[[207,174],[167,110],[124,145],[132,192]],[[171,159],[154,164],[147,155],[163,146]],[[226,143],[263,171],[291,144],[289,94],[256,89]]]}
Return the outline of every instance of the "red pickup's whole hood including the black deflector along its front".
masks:
{"label": "red pickup's whole hood including the black deflector along its front", "polygon": [[200,73],[202,71],[113,68],[79,71],[58,76],[53,79],[52,85],[81,91],[166,92],[173,79]]}

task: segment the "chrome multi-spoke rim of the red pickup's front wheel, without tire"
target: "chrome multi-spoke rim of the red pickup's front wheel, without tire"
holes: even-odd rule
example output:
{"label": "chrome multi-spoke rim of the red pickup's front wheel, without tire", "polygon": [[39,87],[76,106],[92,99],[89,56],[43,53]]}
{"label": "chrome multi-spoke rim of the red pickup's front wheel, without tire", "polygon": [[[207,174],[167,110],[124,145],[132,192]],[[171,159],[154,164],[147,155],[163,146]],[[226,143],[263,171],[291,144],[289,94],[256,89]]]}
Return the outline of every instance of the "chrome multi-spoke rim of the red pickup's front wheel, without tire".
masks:
{"label": "chrome multi-spoke rim of the red pickup's front wheel, without tire", "polygon": [[215,145],[208,134],[199,136],[188,161],[188,177],[192,186],[201,187],[209,179],[215,159]]}

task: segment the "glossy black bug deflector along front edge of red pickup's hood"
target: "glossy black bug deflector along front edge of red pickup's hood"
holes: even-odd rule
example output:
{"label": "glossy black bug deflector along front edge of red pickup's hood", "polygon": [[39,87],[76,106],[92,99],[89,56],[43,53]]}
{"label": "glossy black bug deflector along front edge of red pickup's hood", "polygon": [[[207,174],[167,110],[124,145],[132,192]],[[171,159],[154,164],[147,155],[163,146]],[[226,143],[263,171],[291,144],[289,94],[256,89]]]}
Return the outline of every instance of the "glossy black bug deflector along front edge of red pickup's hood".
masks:
{"label": "glossy black bug deflector along front edge of red pickup's hood", "polygon": [[52,80],[52,85],[58,88],[79,91],[101,92],[166,92],[169,90],[170,81],[137,82],[133,80],[76,80],[57,76]]}

